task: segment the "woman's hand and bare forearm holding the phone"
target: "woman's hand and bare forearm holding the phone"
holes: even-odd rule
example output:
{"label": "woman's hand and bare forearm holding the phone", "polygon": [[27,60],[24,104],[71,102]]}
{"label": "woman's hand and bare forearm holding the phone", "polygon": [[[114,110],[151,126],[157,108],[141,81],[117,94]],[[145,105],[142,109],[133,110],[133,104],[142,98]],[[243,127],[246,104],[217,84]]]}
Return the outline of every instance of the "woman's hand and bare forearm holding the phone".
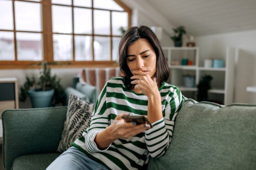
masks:
{"label": "woman's hand and bare forearm holding the phone", "polygon": [[123,115],[127,114],[117,115],[110,126],[96,135],[95,142],[99,149],[107,148],[117,139],[130,139],[150,128],[148,124],[134,125],[133,122],[125,122],[122,118]]}

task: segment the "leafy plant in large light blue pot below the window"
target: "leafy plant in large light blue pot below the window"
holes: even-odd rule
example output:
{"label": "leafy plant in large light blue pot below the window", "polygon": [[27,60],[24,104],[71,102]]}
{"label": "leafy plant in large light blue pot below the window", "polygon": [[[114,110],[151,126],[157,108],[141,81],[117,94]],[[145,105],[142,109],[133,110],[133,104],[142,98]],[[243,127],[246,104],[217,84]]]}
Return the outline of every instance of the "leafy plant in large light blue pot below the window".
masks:
{"label": "leafy plant in large light blue pot below the window", "polygon": [[38,78],[26,75],[26,81],[20,87],[20,101],[24,102],[29,96],[33,108],[56,106],[60,103],[64,105],[65,93],[60,78],[51,75],[47,62],[43,62],[42,66],[43,70]]}

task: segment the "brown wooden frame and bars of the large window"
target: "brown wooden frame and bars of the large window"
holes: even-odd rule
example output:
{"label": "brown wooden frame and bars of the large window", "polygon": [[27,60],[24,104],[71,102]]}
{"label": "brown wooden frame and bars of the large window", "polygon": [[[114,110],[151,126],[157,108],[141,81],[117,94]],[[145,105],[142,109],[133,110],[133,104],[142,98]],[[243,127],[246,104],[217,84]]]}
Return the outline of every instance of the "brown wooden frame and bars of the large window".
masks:
{"label": "brown wooden frame and bars of the large window", "polygon": [[[29,0],[11,0],[12,1],[12,15],[13,15],[13,30],[1,30],[0,31],[6,31],[6,32],[12,32],[14,34],[14,54],[15,54],[15,60],[7,61],[7,60],[0,60],[0,69],[22,69],[22,68],[34,68],[38,67],[38,64],[42,61],[47,61],[50,65],[53,65],[54,67],[109,67],[109,66],[117,66],[117,61],[75,61],[75,36],[74,35],[84,35],[84,34],[75,34],[74,33],[74,7],[78,7],[75,5],[61,5],[61,6],[71,6],[72,7],[72,33],[71,34],[63,34],[63,33],[53,33],[52,30],[52,4],[51,0],[41,0],[39,2],[36,1],[29,1]],[[15,1],[25,1],[25,2],[32,2],[32,3],[40,3],[42,5],[41,15],[42,15],[42,31],[19,31],[16,30],[16,24],[15,24],[15,9],[14,9],[14,2]],[[114,0],[120,7],[123,8],[123,12],[128,13],[128,27],[131,26],[131,9],[128,8],[128,6],[124,5],[123,2],[120,0]],[[73,2],[73,1],[72,1]],[[91,3],[93,4],[93,0],[91,0]],[[59,4],[58,4],[59,5]],[[106,10],[106,9],[100,9],[100,8],[88,8],[92,10]],[[112,11],[117,10],[107,10],[112,13]],[[93,11],[92,11],[93,13]],[[94,34],[93,28],[93,15],[92,15],[92,42],[94,40],[95,36],[107,36],[110,38],[110,48],[111,48],[111,59],[112,59],[112,37],[121,37],[119,35],[112,35],[112,18],[110,18],[110,35],[96,35]],[[17,32],[28,32],[28,33],[41,33],[42,34],[42,51],[43,51],[43,60],[42,61],[32,61],[32,60],[26,60],[21,61],[17,60],[17,40],[16,40],[16,33]],[[71,61],[54,61],[53,60],[53,34],[61,34],[61,35],[72,35],[72,57],[73,59]],[[93,43],[92,43],[93,45]],[[94,50],[92,50],[93,58],[94,58]]]}

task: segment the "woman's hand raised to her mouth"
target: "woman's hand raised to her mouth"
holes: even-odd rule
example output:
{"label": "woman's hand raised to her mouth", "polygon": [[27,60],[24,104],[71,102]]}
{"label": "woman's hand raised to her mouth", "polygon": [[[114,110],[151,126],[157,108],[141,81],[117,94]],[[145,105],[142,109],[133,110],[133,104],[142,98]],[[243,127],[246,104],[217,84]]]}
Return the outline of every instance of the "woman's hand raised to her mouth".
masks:
{"label": "woman's hand raised to her mouth", "polygon": [[152,80],[147,73],[139,70],[133,70],[132,73],[133,76],[131,79],[133,81],[131,84],[135,85],[134,89],[140,90],[144,95],[148,97],[154,97],[154,95],[159,94],[156,78]]}

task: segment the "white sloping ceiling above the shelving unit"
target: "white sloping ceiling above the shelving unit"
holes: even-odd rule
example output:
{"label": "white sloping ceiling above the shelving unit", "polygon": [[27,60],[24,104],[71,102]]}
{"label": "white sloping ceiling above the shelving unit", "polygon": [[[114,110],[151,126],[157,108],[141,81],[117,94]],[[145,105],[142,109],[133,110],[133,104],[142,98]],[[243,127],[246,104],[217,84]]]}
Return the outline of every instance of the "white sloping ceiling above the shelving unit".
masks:
{"label": "white sloping ceiling above the shelving unit", "polygon": [[[256,29],[256,0],[125,1],[128,6],[132,1],[133,8],[138,3],[139,8],[155,9],[169,24],[184,25],[187,33],[195,36]],[[150,10],[142,10],[150,16]]]}

